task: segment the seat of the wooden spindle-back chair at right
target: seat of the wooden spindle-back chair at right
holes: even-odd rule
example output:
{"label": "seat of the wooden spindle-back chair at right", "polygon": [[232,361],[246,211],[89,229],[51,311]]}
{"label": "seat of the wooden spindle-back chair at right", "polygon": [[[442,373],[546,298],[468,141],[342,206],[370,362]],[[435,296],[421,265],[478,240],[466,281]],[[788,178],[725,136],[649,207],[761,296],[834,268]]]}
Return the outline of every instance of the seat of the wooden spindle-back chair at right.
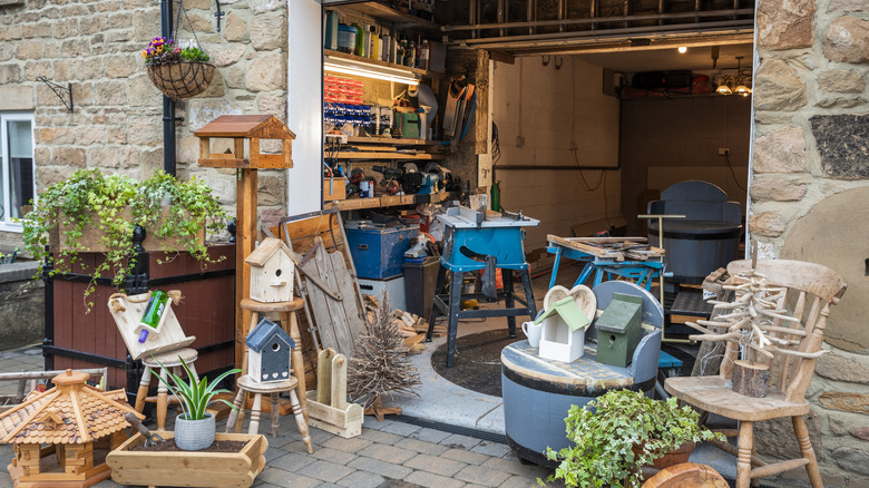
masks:
{"label": "seat of the wooden spindle-back chair at right", "polygon": [[667,378],[664,389],[701,410],[748,422],[809,413],[808,401],[791,403],[779,392],[769,392],[764,398],[746,397],[733,391],[730,380],[717,375]]}

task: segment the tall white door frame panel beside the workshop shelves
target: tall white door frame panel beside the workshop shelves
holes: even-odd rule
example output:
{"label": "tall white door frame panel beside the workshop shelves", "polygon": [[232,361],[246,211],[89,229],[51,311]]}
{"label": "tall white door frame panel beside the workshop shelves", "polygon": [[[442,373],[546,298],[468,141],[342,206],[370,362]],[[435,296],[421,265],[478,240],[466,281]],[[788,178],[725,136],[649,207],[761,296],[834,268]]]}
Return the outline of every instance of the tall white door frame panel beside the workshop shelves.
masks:
{"label": "tall white door frame panel beside the workshop shelves", "polygon": [[316,0],[289,3],[287,126],[295,133],[293,167],[287,169],[287,214],[323,206],[322,9]]}

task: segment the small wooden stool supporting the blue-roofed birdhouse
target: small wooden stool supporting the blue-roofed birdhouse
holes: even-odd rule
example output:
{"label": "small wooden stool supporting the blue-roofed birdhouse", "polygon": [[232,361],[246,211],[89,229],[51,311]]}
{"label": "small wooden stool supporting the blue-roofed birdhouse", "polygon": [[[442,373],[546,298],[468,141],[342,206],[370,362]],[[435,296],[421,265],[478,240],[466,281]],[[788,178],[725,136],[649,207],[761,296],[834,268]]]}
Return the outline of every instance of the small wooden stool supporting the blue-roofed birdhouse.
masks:
{"label": "small wooden stool supporting the blue-roofed birdhouse", "polygon": [[267,394],[272,400],[272,437],[277,437],[277,396],[282,391],[290,392],[290,402],[293,406],[293,416],[295,417],[295,423],[299,426],[299,433],[302,435],[302,442],[307,447],[307,453],[314,453],[314,448],[311,446],[311,436],[307,433],[307,420],[302,414],[302,409],[299,406],[299,397],[295,394],[295,387],[297,381],[295,377],[290,377],[289,380],[283,381],[270,381],[266,383],[257,383],[248,374],[238,378],[236,383],[238,393],[235,396],[235,410],[230,413],[230,418],[226,420],[226,432],[235,427],[235,432],[238,433],[242,430],[242,423],[244,423],[244,406],[247,404],[247,393],[254,393],[254,404],[251,409],[251,424],[247,427],[247,433],[256,435],[260,431],[260,414],[262,413],[263,394]]}

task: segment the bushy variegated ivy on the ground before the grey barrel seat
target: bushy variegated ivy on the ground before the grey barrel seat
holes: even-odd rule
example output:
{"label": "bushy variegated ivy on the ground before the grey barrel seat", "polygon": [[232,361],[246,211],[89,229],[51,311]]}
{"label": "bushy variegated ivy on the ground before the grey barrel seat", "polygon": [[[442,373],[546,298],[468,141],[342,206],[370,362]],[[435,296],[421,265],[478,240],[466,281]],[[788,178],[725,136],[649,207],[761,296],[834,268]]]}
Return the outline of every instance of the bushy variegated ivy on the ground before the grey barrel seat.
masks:
{"label": "bushy variegated ivy on the ground before the grey barrel seat", "polygon": [[684,459],[673,463],[684,462],[695,442],[723,439],[700,427],[699,417],[691,407],[680,408],[675,398],[653,400],[631,390],[608,391],[583,408],[572,406],[565,424],[574,445],[558,452],[547,449],[548,459],[560,460],[548,480],[560,479],[568,487],[638,487],[641,467],[683,447]]}

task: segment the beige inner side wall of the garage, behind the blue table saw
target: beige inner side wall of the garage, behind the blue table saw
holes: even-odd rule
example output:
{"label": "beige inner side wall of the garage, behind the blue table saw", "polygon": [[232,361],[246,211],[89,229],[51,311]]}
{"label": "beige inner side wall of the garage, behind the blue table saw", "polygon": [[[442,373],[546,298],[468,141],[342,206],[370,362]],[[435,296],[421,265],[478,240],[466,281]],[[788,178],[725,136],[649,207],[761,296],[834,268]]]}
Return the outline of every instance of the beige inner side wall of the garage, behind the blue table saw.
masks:
{"label": "beige inner side wall of the garage, behind the blue table saw", "polygon": [[[544,247],[546,234],[572,236],[572,226],[621,214],[621,172],[499,170],[507,165],[618,165],[619,101],[603,94],[603,69],[564,58],[543,66],[540,57],[498,62],[491,78],[492,120],[501,158],[495,166],[501,204],[539,218],[526,251]],[[517,144],[517,137],[525,139]],[[570,143],[577,147],[576,158]],[[583,179],[585,178],[585,180]],[[594,189],[588,189],[594,188]]]}

